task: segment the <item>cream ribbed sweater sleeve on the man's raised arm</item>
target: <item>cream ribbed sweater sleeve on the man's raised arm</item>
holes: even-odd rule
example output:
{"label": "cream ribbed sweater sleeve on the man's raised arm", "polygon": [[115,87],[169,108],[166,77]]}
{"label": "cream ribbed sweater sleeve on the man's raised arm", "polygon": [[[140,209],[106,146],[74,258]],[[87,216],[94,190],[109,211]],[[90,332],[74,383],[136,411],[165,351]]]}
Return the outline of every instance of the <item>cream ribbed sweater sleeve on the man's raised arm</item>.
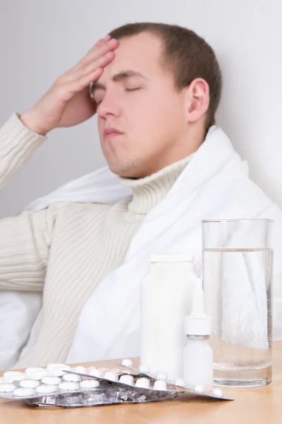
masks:
{"label": "cream ribbed sweater sleeve on the man's raised arm", "polygon": [[[13,112],[0,129],[0,188],[47,136],[27,129]],[[42,290],[56,208],[0,219],[0,290]]]}

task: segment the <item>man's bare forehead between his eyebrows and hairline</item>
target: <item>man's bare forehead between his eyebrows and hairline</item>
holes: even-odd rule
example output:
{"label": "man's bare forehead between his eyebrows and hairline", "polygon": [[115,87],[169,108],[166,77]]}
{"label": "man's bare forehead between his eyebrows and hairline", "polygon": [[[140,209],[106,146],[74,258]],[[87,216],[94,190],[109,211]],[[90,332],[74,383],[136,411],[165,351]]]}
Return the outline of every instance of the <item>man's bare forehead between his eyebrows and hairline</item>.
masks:
{"label": "man's bare forehead between his eyebrows and hairline", "polygon": [[114,50],[115,58],[104,68],[99,82],[103,83],[125,69],[138,71],[147,77],[159,75],[162,71],[161,48],[162,42],[159,37],[150,33],[141,33],[118,40],[118,47]]}

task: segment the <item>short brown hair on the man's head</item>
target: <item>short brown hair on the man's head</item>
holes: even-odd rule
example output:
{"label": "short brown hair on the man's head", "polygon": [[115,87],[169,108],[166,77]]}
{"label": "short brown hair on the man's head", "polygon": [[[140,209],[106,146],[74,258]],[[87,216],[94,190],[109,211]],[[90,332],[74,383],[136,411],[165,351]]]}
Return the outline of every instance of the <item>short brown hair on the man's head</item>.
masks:
{"label": "short brown hair on the man's head", "polygon": [[214,125],[221,98],[222,76],[212,47],[194,31],[166,23],[128,23],[109,34],[112,38],[121,39],[143,32],[152,33],[163,40],[161,61],[165,68],[173,73],[176,89],[181,90],[189,86],[195,78],[207,81],[210,100],[206,128]]}

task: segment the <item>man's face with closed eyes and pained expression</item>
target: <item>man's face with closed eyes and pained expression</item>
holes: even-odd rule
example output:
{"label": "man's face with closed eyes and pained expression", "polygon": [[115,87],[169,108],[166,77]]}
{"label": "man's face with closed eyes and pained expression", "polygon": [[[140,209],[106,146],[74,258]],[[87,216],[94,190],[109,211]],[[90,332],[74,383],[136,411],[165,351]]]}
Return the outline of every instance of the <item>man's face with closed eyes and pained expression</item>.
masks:
{"label": "man's face with closed eyes and pained expression", "polygon": [[122,177],[145,177],[173,163],[186,131],[183,93],[161,68],[161,47],[149,33],[119,40],[94,89],[102,151]]}

